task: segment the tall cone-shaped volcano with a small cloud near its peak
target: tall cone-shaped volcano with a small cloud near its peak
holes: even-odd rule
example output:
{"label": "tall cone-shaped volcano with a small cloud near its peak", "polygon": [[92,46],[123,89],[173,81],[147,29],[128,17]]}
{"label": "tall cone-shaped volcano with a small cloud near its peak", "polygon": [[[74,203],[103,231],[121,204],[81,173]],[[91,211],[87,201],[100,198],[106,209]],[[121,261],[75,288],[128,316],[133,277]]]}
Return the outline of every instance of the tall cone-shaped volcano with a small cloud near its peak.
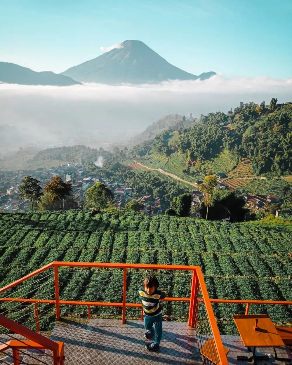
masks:
{"label": "tall cone-shaped volcano with a small cloud near its peak", "polygon": [[62,74],[81,82],[141,84],[165,80],[204,80],[215,75],[215,72],[193,75],[171,65],[141,41],[124,41],[121,48],[71,67]]}

